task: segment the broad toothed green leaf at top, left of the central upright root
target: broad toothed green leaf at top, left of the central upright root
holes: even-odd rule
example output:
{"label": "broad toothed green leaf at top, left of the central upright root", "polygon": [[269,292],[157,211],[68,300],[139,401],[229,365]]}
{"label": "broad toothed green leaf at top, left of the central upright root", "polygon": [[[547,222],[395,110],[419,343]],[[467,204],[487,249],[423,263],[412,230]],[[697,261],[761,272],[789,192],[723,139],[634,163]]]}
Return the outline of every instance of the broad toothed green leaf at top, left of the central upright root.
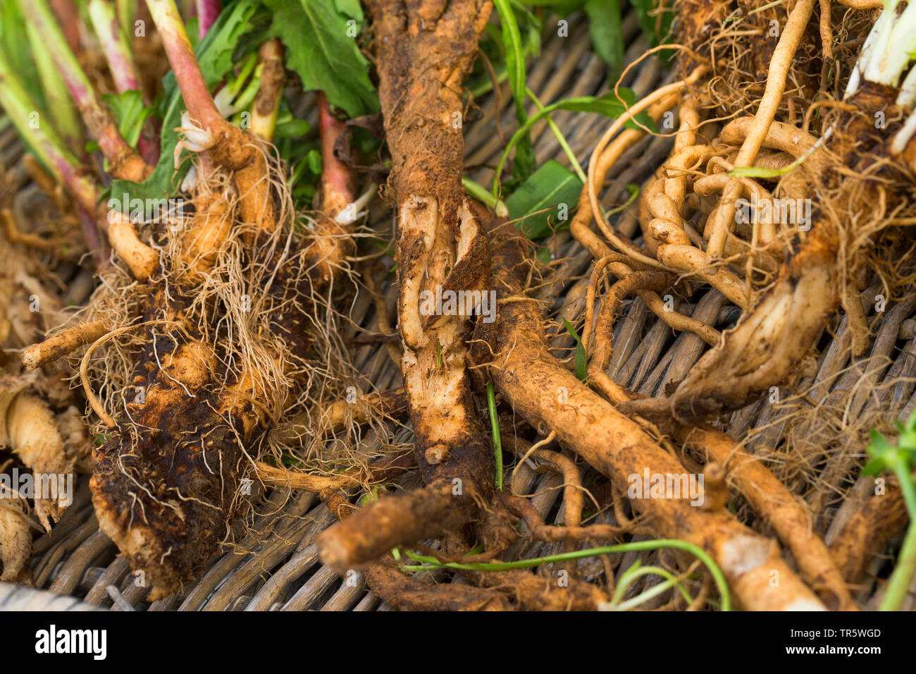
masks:
{"label": "broad toothed green leaf at top, left of the central upright root", "polygon": [[268,34],[288,47],[289,68],[299,73],[306,91],[322,90],[332,105],[349,116],[378,110],[369,63],[355,39],[347,35],[353,0],[264,0],[264,4],[273,10]]}

